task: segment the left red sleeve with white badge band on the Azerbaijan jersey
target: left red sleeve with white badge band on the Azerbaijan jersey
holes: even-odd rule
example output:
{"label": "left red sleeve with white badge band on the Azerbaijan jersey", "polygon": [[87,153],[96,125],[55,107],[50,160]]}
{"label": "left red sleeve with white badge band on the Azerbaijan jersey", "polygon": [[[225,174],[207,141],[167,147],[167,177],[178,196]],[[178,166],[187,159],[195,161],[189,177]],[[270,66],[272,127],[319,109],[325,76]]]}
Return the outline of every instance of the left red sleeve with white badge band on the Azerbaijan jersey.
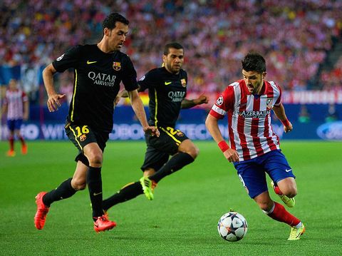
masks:
{"label": "left red sleeve with white badge band on the Azerbaijan jersey", "polygon": [[226,90],[217,98],[216,103],[212,106],[209,115],[214,116],[217,119],[222,119],[227,115],[229,110],[234,107],[234,89],[232,86],[228,86]]}

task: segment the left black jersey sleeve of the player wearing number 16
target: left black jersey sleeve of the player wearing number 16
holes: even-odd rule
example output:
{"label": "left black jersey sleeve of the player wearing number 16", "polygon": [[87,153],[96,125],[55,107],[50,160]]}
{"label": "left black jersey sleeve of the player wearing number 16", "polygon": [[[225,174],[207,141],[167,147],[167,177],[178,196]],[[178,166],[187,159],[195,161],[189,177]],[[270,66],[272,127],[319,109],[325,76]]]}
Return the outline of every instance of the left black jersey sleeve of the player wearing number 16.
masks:
{"label": "left black jersey sleeve of the player wearing number 16", "polygon": [[77,68],[78,59],[81,56],[81,46],[75,46],[63,53],[52,62],[58,72],[64,72],[68,68]]}

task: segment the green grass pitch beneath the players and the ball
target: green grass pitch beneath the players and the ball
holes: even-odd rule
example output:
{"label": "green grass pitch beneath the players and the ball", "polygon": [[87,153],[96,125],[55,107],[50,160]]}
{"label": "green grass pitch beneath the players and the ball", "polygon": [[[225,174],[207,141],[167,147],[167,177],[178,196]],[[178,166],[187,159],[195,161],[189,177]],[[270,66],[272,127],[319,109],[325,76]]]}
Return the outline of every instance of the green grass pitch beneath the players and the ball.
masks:
{"label": "green grass pitch beneath the players and the ball", "polygon": [[[306,233],[287,241],[290,228],[266,217],[242,187],[231,163],[212,141],[195,142],[195,163],[160,181],[155,200],[140,195],[109,211],[118,226],[96,234],[88,189],[53,203],[36,230],[34,197],[73,175],[70,142],[28,142],[28,155],[8,158],[0,142],[0,255],[341,255],[341,142],[283,141],[299,194],[290,212]],[[16,148],[19,149],[18,143]],[[104,198],[142,175],[144,142],[110,142],[103,163]],[[271,197],[279,198],[270,192]],[[246,217],[239,242],[217,233],[230,208]]]}

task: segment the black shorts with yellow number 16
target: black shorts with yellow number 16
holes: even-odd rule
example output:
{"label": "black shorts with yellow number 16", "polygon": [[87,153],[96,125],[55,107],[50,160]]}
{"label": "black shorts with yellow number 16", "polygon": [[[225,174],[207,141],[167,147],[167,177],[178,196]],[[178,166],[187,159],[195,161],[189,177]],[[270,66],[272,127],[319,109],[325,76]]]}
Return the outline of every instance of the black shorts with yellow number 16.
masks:
{"label": "black shorts with yellow number 16", "polygon": [[89,126],[78,126],[74,123],[67,123],[65,129],[68,138],[73,142],[76,148],[78,148],[79,153],[75,158],[76,162],[80,160],[82,163],[89,166],[88,158],[83,154],[83,148],[89,143],[98,143],[102,152],[105,150],[105,143],[109,138],[109,133],[99,133]]}

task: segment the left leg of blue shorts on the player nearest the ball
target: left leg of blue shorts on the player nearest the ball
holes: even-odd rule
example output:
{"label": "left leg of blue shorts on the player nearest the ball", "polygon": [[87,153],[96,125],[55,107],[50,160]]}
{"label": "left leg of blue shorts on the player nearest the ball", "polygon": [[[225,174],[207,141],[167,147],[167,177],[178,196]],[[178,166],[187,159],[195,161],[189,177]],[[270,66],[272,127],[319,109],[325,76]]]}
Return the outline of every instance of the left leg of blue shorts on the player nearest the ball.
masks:
{"label": "left leg of blue shorts on the player nearest the ball", "polygon": [[255,198],[268,190],[266,174],[257,163],[254,163],[254,160],[235,163],[234,167],[250,198]]}

